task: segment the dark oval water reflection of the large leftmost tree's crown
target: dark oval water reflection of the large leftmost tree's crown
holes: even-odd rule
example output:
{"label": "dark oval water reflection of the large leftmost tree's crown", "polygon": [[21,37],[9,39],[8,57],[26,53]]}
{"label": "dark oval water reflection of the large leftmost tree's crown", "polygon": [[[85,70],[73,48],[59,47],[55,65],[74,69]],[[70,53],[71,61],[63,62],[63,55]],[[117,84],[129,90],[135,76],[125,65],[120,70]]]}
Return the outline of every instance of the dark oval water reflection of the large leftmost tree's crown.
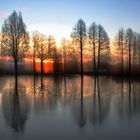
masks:
{"label": "dark oval water reflection of the large leftmost tree's crown", "polygon": [[3,115],[16,132],[23,132],[30,110],[26,89],[23,85],[5,87],[2,95]]}

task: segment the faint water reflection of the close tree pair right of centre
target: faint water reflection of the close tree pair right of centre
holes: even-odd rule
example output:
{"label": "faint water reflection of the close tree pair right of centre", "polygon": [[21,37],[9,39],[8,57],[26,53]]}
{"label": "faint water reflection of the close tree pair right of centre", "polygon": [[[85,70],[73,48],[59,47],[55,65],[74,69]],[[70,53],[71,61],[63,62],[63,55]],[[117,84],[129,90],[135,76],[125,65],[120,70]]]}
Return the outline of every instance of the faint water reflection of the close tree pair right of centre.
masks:
{"label": "faint water reflection of the close tree pair right of centre", "polygon": [[93,125],[102,124],[110,108],[110,79],[94,77],[93,97],[90,101],[90,121]]}

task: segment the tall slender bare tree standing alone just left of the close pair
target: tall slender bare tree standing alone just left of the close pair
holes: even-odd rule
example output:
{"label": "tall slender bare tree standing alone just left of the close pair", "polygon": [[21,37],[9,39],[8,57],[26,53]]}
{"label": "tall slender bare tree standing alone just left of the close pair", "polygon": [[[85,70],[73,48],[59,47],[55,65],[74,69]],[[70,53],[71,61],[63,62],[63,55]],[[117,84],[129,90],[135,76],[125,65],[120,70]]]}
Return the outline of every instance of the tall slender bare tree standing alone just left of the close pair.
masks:
{"label": "tall slender bare tree standing alone just left of the close pair", "polygon": [[81,57],[81,75],[83,75],[83,46],[86,39],[86,24],[82,19],[79,19],[72,33],[72,38],[75,38],[80,47]]}

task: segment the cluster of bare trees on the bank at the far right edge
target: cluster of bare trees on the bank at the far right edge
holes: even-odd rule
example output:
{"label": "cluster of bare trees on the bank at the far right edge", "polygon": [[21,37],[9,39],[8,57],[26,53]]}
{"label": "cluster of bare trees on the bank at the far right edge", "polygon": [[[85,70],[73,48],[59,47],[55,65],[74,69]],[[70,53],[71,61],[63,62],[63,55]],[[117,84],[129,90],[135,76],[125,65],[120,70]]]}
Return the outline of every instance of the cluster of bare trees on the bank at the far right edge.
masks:
{"label": "cluster of bare trees on the bank at the far right edge", "polygon": [[119,55],[118,69],[122,74],[138,74],[140,72],[140,33],[131,28],[120,28],[115,42]]}

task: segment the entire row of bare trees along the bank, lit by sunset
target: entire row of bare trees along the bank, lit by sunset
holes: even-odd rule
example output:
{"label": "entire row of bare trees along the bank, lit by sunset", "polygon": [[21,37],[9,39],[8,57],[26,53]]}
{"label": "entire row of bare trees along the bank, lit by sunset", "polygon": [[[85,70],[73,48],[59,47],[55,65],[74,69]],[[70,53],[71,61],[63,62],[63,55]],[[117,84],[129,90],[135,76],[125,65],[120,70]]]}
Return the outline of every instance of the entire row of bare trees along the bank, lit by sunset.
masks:
{"label": "entire row of bare trees along the bank, lit by sunset", "polygon": [[34,31],[29,34],[21,12],[13,11],[1,29],[1,56],[11,56],[18,74],[18,62],[25,57],[40,60],[41,71],[47,59],[53,61],[53,74],[139,74],[140,34],[131,28],[119,29],[113,46],[105,28],[93,22],[88,28],[84,20],[75,24],[71,40],[62,39],[60,47],[53,36]]}

